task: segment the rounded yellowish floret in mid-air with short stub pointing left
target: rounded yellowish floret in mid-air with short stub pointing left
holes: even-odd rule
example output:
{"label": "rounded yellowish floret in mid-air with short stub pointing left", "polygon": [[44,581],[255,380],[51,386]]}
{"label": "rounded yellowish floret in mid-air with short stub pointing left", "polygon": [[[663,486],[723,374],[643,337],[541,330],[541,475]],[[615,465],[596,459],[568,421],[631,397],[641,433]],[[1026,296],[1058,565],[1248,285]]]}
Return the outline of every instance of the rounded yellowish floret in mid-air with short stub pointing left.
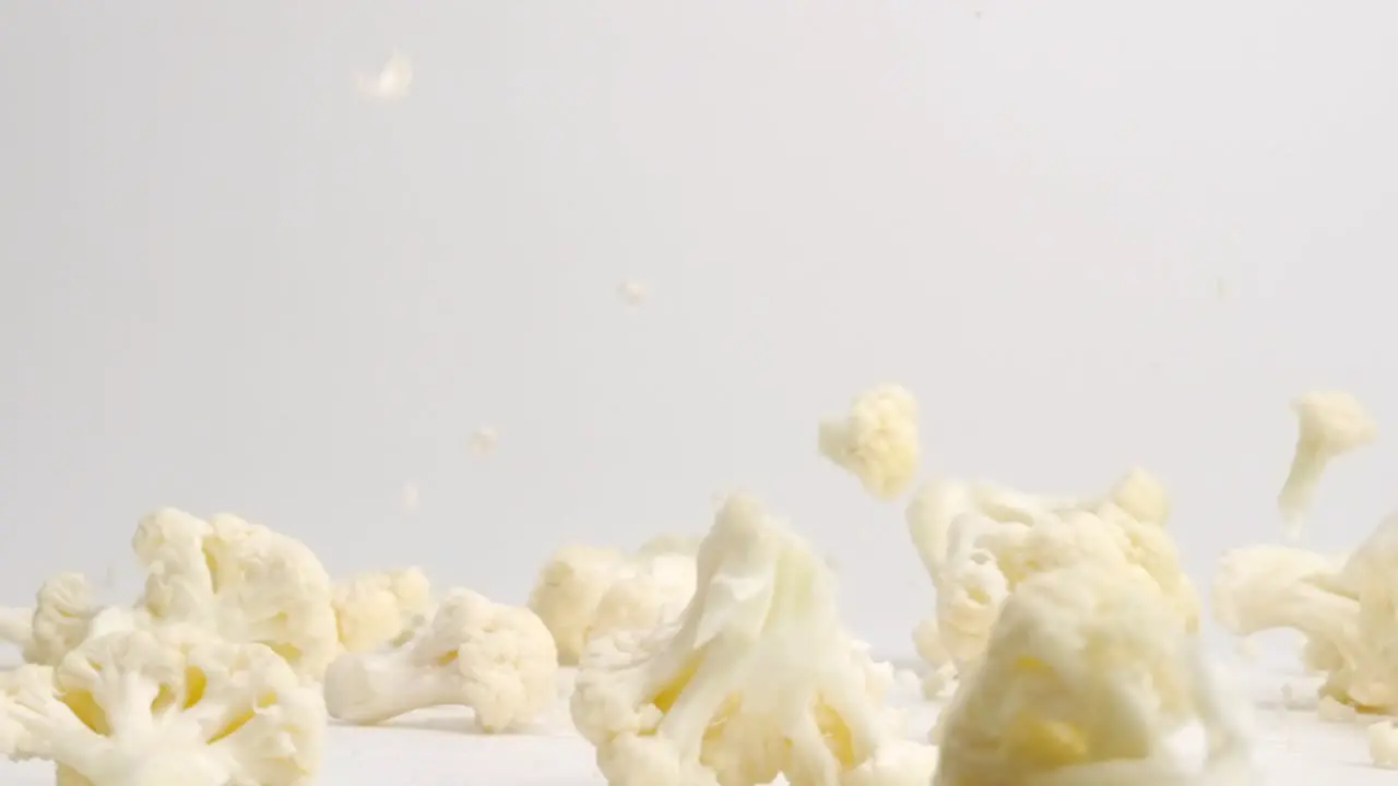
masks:
{"label": "rounded yellowish floret in mid-air with short stub pointing left", "polygon": [[858,394],[844,417],[821,421],[821,455],[851,473],[864,490],[892,499],[917,473],[917,400],[896,385]]}

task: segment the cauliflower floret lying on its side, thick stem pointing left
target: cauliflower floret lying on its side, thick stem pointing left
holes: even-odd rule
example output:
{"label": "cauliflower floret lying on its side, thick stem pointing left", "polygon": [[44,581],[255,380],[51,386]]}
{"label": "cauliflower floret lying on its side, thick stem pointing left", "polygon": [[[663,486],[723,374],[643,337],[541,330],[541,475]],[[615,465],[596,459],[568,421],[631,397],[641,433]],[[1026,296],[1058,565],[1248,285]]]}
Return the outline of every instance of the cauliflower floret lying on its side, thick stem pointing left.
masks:
{"label": "cauliflower floret lying on its side, thick stem pointing left", "polygon": [[426,706],[466,705],[487,731],[533,722],[556,695],[558,650],[527,608],[453,590],[401,645],[343,655],[326,673],[330,715],[379,723]]}

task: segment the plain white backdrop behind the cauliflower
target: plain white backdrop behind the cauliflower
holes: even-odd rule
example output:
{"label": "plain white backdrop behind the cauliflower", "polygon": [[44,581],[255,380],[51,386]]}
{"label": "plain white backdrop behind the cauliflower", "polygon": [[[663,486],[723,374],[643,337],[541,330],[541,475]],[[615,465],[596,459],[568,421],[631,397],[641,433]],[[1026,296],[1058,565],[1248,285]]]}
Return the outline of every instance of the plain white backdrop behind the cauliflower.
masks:
{"label": "plain white backdrop behind the cauliflower", "polygon": [[[176,505],[523,600],[552,547],[699,530],[745,487],[907,649],[930,589],[902,503],[815,455],[885,380],[921,400],[927,473],[1155,470],[1205,579],[1279,537],[1292,396],[1398,428],[1395,25],[1380,0],[7,3],[0,599],[101,573]],[[393,48],[410,97],[365,101]],[[1395,506],[1395,449],[1335,466],[1313,544]]]}

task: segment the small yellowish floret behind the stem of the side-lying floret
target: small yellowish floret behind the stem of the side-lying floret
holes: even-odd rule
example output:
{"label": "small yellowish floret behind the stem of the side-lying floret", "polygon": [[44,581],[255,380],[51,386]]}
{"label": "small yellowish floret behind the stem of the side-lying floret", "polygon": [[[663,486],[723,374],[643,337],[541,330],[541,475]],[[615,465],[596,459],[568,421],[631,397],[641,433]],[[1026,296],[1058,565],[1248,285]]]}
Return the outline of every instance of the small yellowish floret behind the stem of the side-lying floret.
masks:
{"label": "small yellowish floret behind the stem of the side-lying floret", "polygon": [[340,643],[366,652],[403,634],[432,606],[432,585],[422,571],[359,573],[334,587]]}

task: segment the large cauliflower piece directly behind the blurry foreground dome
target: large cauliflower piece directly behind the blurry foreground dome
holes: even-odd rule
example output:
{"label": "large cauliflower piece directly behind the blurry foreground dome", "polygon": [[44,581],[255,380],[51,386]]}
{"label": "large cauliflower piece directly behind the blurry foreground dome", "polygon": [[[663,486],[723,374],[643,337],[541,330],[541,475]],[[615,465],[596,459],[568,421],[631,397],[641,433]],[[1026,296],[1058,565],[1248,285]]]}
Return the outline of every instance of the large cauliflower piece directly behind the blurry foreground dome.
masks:
{"label": "large cauliflower piece directly behind the blurry foreground dome", "polygon": [[907,509],[909,531],[937,589],[935,617],[913,641],[935,694],[984,652],[1007,599],[1025,580],[1075,564],[1149,579],[1187,629],[1198,597],[1165,530],[1169,501],[1144,470],[1103,496],[1035,496],[986,483],[938,478]]}

